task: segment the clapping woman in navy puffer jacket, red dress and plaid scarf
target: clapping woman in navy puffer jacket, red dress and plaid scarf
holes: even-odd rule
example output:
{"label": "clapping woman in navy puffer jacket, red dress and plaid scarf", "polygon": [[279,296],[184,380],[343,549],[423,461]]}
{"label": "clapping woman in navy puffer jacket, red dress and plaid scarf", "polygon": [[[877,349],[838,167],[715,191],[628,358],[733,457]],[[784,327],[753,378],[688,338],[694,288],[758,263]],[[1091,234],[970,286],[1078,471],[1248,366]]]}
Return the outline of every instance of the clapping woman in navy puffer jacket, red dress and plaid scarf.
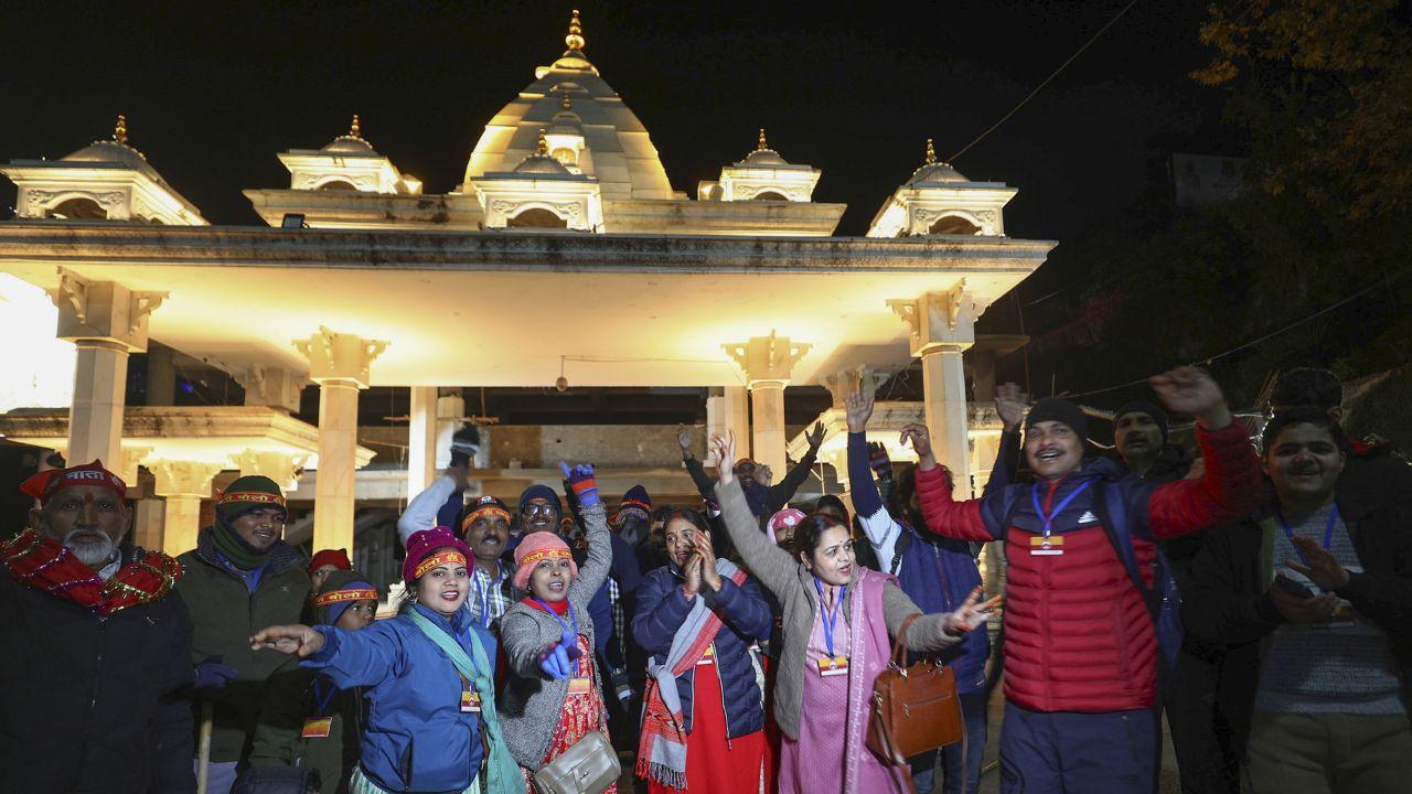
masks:
{"label": "clapping woman in navy puffer jacket, red dress and plaid scarf", "polygon": [[666,565],[637,593],[633,636],[652,654],[637,773],[654,794],[754,791],[765,760],[755,643],[774,624],[760,585],[712,552],[710,524],[676,510]]}

